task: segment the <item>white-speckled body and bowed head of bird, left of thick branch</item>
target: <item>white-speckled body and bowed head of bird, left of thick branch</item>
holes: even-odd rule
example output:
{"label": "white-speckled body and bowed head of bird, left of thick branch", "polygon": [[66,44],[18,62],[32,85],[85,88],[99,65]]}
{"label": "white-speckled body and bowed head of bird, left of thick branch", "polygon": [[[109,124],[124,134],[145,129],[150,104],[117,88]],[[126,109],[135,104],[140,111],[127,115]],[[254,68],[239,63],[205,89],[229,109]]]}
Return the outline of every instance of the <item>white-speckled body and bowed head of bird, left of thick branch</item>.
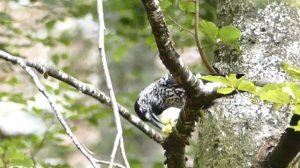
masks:
{"label": "white-speckled body and bowed head of bird, left of thick branch", "polygon": [[168,74],[142,90],[134,108],[142,120],[150,121],[162,128],[157,116],[169,107],[181,108],[184,104],[184,97],[184,89],[179,87],[175,79]]}

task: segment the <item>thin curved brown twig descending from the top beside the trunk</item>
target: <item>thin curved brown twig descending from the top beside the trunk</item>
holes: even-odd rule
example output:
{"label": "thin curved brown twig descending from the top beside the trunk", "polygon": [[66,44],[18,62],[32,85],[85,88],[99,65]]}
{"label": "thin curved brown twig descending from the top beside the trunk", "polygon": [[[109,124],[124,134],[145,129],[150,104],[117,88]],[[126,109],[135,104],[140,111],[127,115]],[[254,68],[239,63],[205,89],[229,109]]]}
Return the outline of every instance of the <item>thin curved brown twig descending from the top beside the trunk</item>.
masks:
{"label": "thin curved brown twig descending from the top beside the trunk", "polygon": [[197,48],[198,48],[198,51],[200,53],[202,62],[206,66],[207,70],[210,73],[215,74],[217,72],[211,66],[211,64],[209,63],[209,61],[207,60],[207,57],[206,57],[206,55],[205,55],[205,53],[203,51],[203,48],[201,47],[201,43],[200,43],[200,40],[199,40],[199,0],[196,0],[195,8],[196,8],[196,11],[195,11],[195,41],[196,41],[196,44],[197,44]]}

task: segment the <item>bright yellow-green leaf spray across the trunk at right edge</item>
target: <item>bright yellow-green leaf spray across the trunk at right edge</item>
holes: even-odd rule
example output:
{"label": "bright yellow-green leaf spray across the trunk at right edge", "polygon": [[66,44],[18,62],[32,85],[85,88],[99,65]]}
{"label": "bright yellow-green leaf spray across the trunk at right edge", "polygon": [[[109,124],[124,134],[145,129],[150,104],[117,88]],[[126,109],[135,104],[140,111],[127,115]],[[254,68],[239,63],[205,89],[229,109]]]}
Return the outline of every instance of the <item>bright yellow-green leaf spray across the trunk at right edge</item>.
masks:
{"label": "bright yellow-green leaf spray across the trunk at right edge", "polygon": [[[293,113],[300,115],[300,68],[283,64],[282,68],[294,78],[294,82],[272,83],[256,86],[254,82],[245,77],[236,78],[235,74],[228,76],[203,76],[202,79],[224,84],[223,88],[217,89],[218,93],[230,94],[234,91],[246,91],[259,97],[263,101],[274,103],[278,109],[282,106],[291,106]],[[293,127],[300,131],[300,123]]]}

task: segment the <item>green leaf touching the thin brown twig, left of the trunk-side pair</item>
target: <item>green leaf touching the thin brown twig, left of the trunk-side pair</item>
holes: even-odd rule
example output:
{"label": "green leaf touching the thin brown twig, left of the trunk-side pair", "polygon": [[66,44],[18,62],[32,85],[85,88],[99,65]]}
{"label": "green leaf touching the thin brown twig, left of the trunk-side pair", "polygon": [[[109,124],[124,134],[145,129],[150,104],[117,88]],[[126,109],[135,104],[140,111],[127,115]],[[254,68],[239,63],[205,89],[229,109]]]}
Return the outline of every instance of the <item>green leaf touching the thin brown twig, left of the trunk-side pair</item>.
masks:
{"label": "green leaf touching the thin brown twig, left of the trunk-side pair", "polygon": [[207,37],[214,43],[217,42],[219,36],[219,28],[215,23],[202,20],[200,22],[200,31],[207,35]]}

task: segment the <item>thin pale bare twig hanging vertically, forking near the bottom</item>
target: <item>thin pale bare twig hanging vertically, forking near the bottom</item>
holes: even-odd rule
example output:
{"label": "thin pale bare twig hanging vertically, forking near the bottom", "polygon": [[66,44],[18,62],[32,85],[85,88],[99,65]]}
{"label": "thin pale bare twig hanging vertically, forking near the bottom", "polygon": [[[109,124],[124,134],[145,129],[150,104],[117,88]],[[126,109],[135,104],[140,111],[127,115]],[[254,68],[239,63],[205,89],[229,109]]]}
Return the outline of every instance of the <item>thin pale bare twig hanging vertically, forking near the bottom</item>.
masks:
{"label": "thin pale bare twig hanging vertically, forking near the bottom", "polygon": [[126,157],[126,152],[125,152],[125,147],[124,147],[124,142],[123,141],[123,131],[122,131],[122,124],[121,124],[121,119],[120,119],[120,114],[119,114],[119,110],[118,110],[118,104],[115,98],[115,94],[114,94],[114,90],[113,90],[113,86],[112,86],[112,82],[110,79],[110,75],[109,75],[109,69],[108,69],[108,65],[107,65],[107,61],[106,61],[106,54],[105,54],[105,48],[104,48],[104,30],[105,30],[105,25],[104,25],[104,16],[103,16],[103,4],[102,4],[102,0],[97,0],[97,11],[98,11],[98,23],[99,23],[99,39],[98,39],[98,43],[99,43],[99,54],[100,57],[102,59],[102,67],[104,70],[104,75],[105,75],[105,80],[106,80],[106,85],[107,88],[109,90],[109,95],[111,98],[111,104],[112,104],[112,108],[113,108],[113,112],[114,112],[114,116],[115,116],[115,123],[116,123],[116,127],[117,127],[117,135],[115,138],[115,142],[114,142],[114,147],[110,156],[110,164],[109,164],[109,168],[113,167],[113,163],[115,160],[115,156],[117,153],[117,149],[118,146],[120,145],[120,149],[121,149],[121,153],[122,153],[122,157],[123,160],[125,162],[126,167],[130,167],[127,157]]}

